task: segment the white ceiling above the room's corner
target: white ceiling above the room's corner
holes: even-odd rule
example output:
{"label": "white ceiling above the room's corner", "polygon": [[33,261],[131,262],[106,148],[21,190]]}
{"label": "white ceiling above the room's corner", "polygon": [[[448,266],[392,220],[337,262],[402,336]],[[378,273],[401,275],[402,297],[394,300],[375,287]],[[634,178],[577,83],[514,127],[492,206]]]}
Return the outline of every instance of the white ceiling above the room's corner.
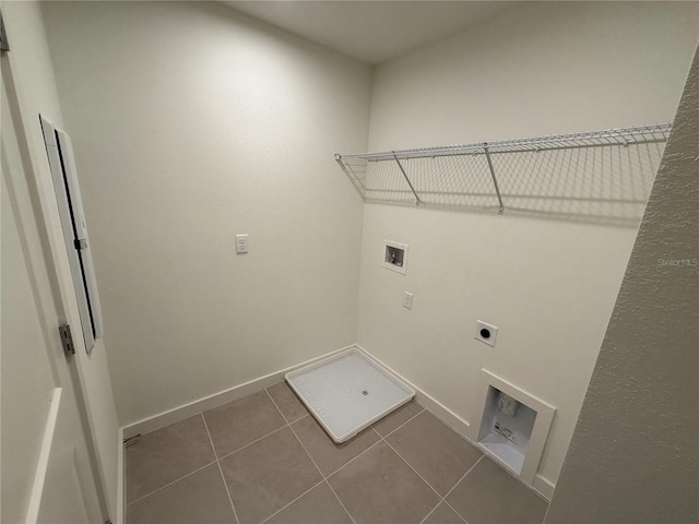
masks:
{"label": "white ceiling above the room's corner", "polygon": [[359,61],[378,64],[512,9],[500,1],[260,1],[223,3]]}

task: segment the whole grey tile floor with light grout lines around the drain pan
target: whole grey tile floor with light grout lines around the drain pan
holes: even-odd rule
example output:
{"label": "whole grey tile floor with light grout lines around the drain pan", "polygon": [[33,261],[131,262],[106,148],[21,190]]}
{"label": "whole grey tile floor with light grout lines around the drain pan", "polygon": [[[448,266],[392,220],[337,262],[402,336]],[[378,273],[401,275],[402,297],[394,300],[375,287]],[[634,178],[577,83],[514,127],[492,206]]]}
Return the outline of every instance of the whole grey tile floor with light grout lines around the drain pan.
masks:
{"label": "whole grey tile floor with light grout lines around the drain pan", "polygon": [[128,524],[541,524],[547,508],[416,402],[337,445],[286,383],[126,456]]}

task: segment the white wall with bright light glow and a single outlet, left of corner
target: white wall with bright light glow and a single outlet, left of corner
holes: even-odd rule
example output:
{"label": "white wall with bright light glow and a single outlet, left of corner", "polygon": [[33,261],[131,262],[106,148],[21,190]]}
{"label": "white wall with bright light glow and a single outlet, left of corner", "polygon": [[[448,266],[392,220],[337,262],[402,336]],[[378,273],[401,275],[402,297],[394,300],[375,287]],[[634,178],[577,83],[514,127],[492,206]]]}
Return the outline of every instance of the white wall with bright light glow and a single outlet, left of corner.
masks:
{"label": "white wall with bright light glow and a single outlet, left of corner", "polygon": [[354,343],[369,68],[213,2],[44,13],[121,424]]}

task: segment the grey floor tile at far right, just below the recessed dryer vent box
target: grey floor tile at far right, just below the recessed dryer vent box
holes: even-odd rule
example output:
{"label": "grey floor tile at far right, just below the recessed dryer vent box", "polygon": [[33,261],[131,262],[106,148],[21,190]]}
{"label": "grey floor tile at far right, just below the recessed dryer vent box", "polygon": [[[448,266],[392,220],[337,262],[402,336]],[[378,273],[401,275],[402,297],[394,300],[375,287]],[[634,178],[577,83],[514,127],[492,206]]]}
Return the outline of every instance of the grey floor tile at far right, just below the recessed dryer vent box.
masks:
{"label": "grey floor tile at far right, just below the recessed dryer vent box", "polygon": [[447,501],[469,524],[541,524],[548,505],[487,456]]}

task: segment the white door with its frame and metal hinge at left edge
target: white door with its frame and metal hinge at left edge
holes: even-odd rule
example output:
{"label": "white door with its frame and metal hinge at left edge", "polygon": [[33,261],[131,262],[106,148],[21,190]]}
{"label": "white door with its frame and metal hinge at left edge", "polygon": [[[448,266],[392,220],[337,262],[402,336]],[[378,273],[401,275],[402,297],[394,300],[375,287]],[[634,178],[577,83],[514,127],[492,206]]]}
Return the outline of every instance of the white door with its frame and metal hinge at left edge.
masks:
{"label": "white door with its frame and metal hinge at left edge", "polygon": [[[16,16],[17,51],[24,16],[37,9],[20,3],[3,4],[11,48],[7,8]],[[98,388],[104,345],[87,356],[38,114],[12,52],[1,58],[0,520],[102,523],[115,507],[118,446],[110,385]],[[63,352],[62,323],[73,327],[74,356]]]}

